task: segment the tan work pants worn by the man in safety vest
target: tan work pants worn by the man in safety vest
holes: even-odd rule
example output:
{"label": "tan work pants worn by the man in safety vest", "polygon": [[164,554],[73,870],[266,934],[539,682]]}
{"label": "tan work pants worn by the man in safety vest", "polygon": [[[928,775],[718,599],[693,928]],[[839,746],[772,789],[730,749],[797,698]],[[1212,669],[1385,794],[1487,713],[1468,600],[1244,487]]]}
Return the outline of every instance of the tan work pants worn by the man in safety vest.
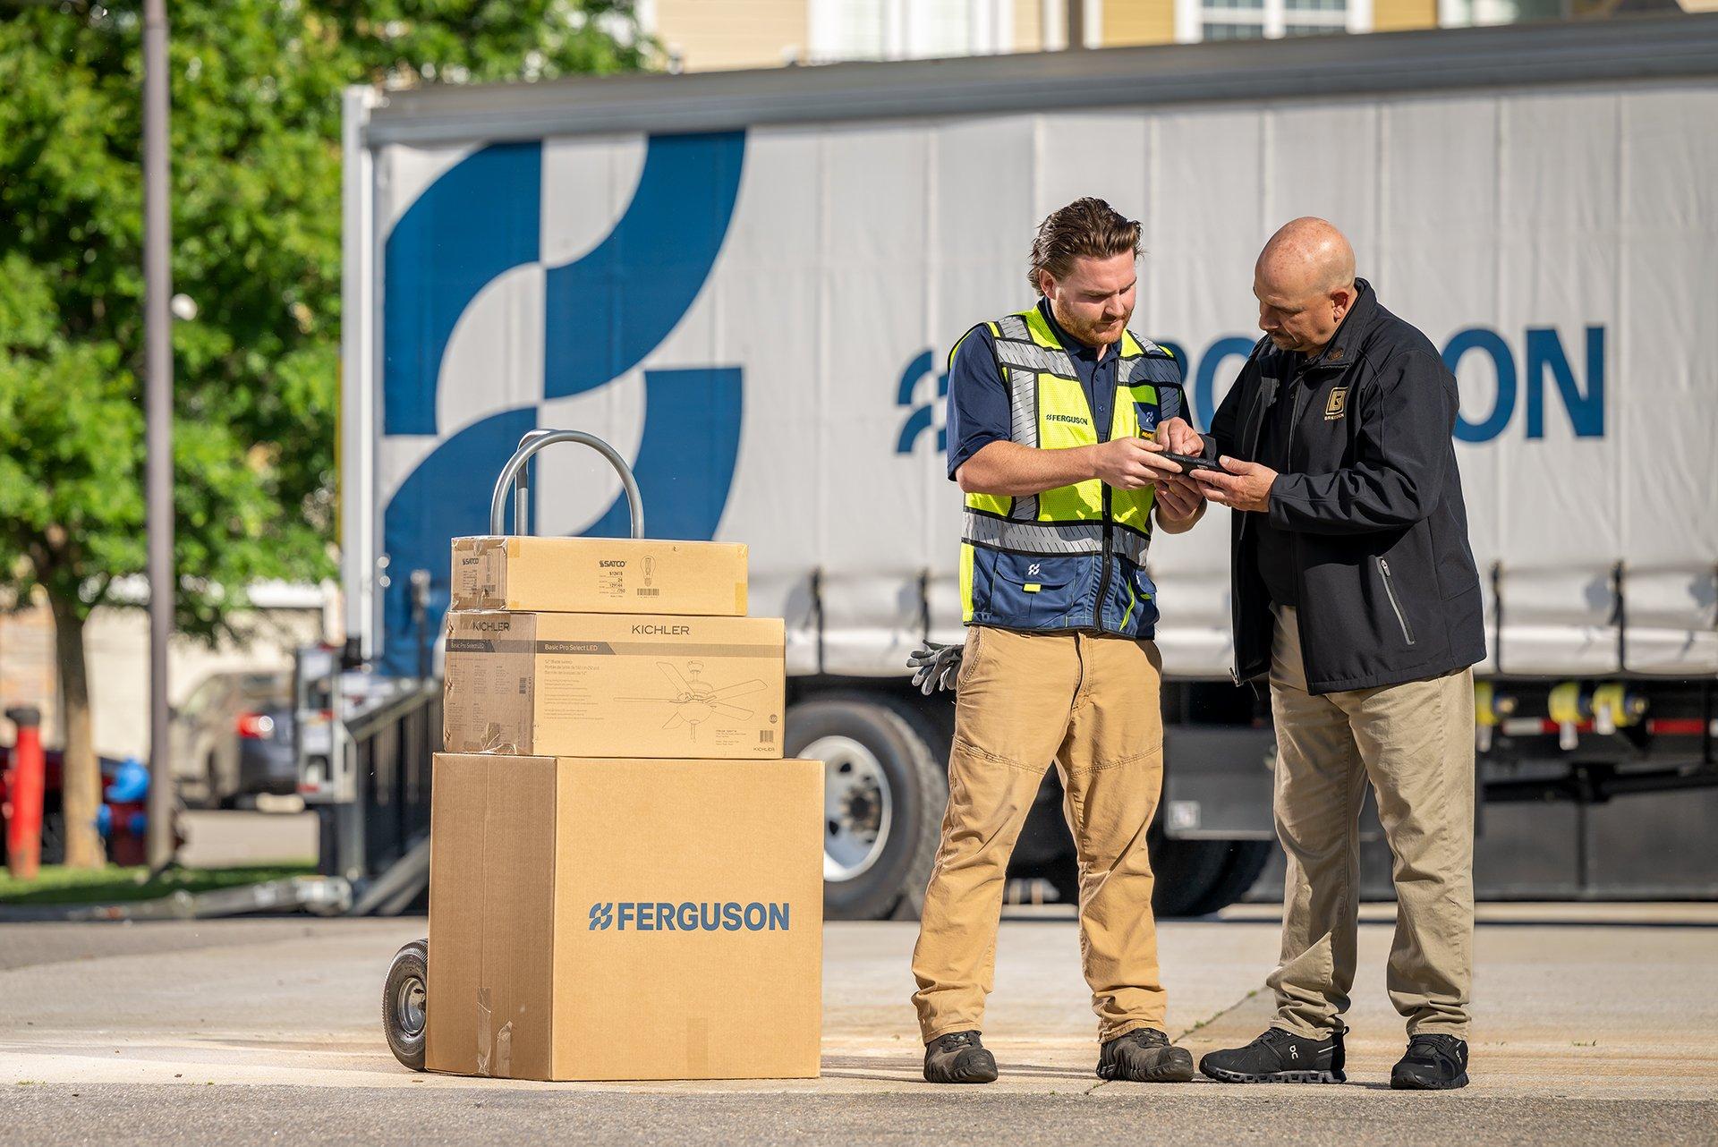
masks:
{"label": "tan work pants worn by the man in safety vest", "polygon": [[1148,640],[967,630],[948,810],[912,951],[924,1042],[984,1027],[1008,853],[1051,761],[1079,855],[1098,1039],[1163,1027],[1146,857],[1163,788],[1160,665]]}

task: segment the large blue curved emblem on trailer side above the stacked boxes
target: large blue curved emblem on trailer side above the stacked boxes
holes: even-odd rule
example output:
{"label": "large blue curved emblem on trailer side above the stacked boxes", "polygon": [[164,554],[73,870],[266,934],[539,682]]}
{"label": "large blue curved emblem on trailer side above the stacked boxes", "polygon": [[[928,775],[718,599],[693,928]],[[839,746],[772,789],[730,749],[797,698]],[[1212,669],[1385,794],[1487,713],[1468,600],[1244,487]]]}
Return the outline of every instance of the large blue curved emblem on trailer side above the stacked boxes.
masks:
{"label": "large blue curved emblem on trailer side above the stacked boxes", "polygon": [[[383,510],[381,671],[412,675],[419,627],[431,640],[442,628],[447,539],[490,531],[490,488],[472,477],[500,469],[538,426],[539,402],[629,376],[692,309],[734,218],[744,156],[746,132],[651,136],[622,216],[596,247],[558,266],[545,264],[541,251],[543,199],[560,192],[539,143],[472,151],[393,225],[381,256],[383,434],[435,448]],[[469,426],[442,426],[442,369],[455,326],[491,283],[531,264],[543,273],[541,393]],[[739,366],[643,371],[644,433],[632,472],[655,536],[715,537],[739,458],[742,381]],[[582,532],[625,537],[625,498],[615,496]],[[412,570],[431,575],[421,620]]]}

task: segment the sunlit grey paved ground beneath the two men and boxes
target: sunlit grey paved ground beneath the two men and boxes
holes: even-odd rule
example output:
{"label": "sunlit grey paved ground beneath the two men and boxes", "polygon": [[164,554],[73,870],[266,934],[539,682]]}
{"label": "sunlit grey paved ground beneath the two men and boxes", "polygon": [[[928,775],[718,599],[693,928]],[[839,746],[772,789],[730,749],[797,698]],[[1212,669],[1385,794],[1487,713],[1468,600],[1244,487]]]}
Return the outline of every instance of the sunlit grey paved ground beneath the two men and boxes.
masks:
{"label": "sunlit grey paved ground beneath the two men and boxes", "polygon": [[[1369,908],[1347,1087],[1103,1083],[1070,920],[1003,925],[1003,1080],[931,1089],[911,924],[826,931],[823,1078],[527,1083],[414,1075],[381,1041],[388,956],[424,922],[0,925],[0,1142],[1718,1142],[1718,907],[1493,907],[1474,1085],[1388,1090],[1390,910]],[[1268,1020],[1268,913],[1168,922],[1194,1054]]]}

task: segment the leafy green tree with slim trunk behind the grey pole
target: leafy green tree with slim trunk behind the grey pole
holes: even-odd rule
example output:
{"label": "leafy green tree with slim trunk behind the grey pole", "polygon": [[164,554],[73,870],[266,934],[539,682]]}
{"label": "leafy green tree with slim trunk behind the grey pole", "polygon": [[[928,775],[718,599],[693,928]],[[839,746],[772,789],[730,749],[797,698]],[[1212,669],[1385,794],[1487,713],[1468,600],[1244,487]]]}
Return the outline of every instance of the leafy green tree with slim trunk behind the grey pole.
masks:
{"label": "leafy green tree with slim trunk behind the grey pole", "polygon": [[[340,93],[637,69],[631,3],[175,0],[177,628],[333,570]],[[141,2],[0,0],[0,591],[46,594],[67,862],[101,862],[82,630],[144,570]]]}

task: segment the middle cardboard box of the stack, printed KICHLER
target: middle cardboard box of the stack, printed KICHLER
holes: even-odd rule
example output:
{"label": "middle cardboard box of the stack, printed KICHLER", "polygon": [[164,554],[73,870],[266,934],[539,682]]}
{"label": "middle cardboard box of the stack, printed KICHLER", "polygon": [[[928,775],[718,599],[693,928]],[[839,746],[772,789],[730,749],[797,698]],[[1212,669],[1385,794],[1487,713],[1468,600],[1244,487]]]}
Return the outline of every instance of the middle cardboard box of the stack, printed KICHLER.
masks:
{"label": "middle cardboard box of the stack, printed KICHLER", "polygon": [[447,615],[448,752],[782,756],[780,618]]}

